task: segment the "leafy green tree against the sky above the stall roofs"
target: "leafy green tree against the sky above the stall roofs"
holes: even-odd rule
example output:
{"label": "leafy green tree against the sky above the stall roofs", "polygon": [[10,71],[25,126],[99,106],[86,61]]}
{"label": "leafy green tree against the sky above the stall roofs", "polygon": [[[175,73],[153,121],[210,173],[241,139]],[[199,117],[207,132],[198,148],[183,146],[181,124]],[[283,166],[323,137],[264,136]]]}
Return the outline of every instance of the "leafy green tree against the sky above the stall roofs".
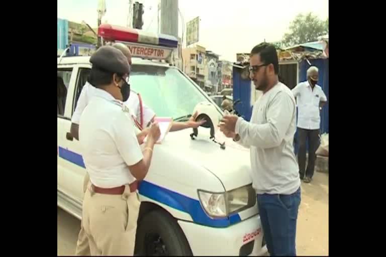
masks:
{"label": "leafy green tree against the sky above the stall roofs", "polygon": [[312,13],[299,14],[289,25],[289,33],[285,33],[282,43],[285,46],[293,46],[301,43],[317,41],[319,36],[328,33],[328,18],[320,20]]}

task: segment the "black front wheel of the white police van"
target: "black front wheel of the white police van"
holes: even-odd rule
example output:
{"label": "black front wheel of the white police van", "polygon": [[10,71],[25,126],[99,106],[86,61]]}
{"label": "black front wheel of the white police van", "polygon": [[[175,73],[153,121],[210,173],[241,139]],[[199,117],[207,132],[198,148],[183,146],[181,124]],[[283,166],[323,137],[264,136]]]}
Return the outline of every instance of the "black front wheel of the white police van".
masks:
{"label": "black front wheel of the white police van", "polygon": [[135,242],[135,255],[193,255],[176,220],[161,210],[151,211],[141,219]]}

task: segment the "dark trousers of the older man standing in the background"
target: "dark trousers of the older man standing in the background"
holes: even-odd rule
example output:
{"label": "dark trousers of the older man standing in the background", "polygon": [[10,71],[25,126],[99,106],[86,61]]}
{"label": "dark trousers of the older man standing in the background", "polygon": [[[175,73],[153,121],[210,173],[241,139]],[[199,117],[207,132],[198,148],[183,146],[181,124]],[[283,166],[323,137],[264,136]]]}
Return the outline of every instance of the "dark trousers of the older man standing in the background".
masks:
{"label": "dark trousers of the older man standing in the background", "polygon": [[[298,127],[299,137],[299,173],[300,178],[314,176],[316,150],[319,147],[319,130],[305,130]],[[308,165],[306,169],[306,141],[308,140]]]}

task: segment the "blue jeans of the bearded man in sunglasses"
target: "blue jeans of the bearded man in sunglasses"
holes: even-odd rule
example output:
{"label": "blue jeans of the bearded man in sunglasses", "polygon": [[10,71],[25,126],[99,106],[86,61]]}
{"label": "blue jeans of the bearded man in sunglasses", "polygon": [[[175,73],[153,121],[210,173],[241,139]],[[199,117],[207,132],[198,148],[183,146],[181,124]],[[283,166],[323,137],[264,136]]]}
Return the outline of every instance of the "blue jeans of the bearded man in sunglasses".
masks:
{"label": "blue jeans of the bearded man in sunglasses", "polygon": [[271,256],[296,256],[300,201],[300,188],[291,195],[257,195],[261,225]]}

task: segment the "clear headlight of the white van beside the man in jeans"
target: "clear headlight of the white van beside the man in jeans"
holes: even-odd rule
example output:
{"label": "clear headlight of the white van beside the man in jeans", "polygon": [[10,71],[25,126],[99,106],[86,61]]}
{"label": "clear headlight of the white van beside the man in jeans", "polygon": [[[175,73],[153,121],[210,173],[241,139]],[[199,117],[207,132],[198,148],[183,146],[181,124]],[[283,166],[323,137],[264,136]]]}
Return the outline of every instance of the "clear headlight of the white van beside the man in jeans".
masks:
{"label": "clear headlight of the white van beside the man in jeans", "polygon": [[198,190],[199,199],[211,217],[226,217],[256,204],[256,193],[252,185],[243,186],[224,193]]}

